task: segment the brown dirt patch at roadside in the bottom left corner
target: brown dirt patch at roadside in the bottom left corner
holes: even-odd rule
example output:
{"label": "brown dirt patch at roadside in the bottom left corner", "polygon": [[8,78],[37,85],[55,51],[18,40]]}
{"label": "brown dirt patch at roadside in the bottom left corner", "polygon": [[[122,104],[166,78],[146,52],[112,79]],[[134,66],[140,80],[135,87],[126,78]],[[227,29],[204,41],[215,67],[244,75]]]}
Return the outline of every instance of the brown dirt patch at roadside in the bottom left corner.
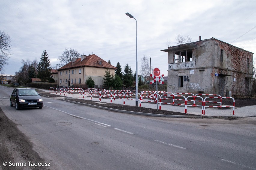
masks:
{"label": "brown dirt patch at roadside in the bottom left corner", "polygon": [[[44,163],[44,159],[33,151],[29,138],[20,132],[16,126],[0,108],[0,167],[3,170],[50,169],[49,166],[29,166],[29,161],[32,165],[36,162]],[[4,162],[7,163],[7,166],[4,166]],[[26,166],[22,166],[25,163]]]}

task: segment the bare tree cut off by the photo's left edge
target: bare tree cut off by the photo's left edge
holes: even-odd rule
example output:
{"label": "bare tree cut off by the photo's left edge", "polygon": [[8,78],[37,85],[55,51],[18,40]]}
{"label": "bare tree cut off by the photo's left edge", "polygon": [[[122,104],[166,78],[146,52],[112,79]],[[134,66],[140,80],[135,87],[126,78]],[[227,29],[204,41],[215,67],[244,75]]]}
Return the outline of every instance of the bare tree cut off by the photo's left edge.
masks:
{"label": "bare tree cut off by the photo's left edge", "polygon": [[7,65],[8,60],[8,52],[11,51],[11,38],[8,34],[5,33],[5,31],[0,31],[0,70],[4,68],[5,65]]}

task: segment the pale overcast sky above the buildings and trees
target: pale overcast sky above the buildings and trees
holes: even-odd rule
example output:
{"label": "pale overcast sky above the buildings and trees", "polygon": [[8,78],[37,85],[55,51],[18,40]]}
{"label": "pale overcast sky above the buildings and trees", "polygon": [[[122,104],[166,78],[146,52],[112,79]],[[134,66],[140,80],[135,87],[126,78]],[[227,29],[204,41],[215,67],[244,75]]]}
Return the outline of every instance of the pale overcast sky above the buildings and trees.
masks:
{"label": "pale overcast sky above the buildings and trees", "polygon": [[[52,66],[65,48],[96,54],[113,66],[138,70],[143,55],[167,75],[167,52],[177,34],[192,42],[216,38],[256,53],[255,0],[1,0],[0,30],[11,37],[4,74],[14,75],[21,60],[40,60],[47,51]],[[241,37],[242,36],[242,37]],[[255,60],[254,60],[255,61]],[[140,74],[140,72],[139,72]]]}

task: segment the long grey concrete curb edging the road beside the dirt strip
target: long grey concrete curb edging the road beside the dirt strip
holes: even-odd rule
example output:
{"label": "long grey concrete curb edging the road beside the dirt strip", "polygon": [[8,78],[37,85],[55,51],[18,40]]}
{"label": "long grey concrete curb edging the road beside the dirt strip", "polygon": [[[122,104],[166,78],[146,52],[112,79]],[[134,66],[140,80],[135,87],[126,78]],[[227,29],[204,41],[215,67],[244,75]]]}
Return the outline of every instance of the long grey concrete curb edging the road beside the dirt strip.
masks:
{"label": "long grey concrete curb edging the road beside the dirt strip", "polygon": [[[86,104],[86,103],[80,103],[77,101],[70,101],[70,100],[65,100],[65,99],[59,99],[61,101],[67,101],[70,103],[75,103],[75,104],[81,104],[89,107],[96,107],[99,109],[105,109],[105,110],[111,110],[115,112],[121,112],[121,113],[128,113],[128,114],[136,114],[136,115],[144,115],[144,116],[155,116],[155,117],[172,117],[172,118],[218,118],[218,119],[225,119],[225,118],[242,118],[242,116],[181,116],[181,115],[162,115],[162,114],[153,114],[153,113],[142,113],[142,112],[133,112],[133,111],[128,111],[128,110],[118,110],[118,109],[112,109],[108,107],[103,107],[103,106],[96,106],[92,104]],[[246,117],[251,117],[251,116],[246,116]]]}

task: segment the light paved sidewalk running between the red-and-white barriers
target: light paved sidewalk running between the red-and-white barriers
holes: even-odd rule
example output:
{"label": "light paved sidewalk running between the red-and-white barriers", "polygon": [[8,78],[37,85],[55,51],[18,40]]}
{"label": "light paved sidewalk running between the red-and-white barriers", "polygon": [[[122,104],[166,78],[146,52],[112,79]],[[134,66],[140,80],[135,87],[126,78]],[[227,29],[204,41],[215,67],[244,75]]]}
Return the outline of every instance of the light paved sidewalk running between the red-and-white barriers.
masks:
{"label": "light paved sidewalk running between the red-and-white barriers", "polygon": [[[41,89],[42,90],[42,89]],[[49,92],[49,90],[44,90],[45,92]],[[51,92],[52,93],[52,92]],[[53,94],[56,94],[54,92]],[[59,95],[59,92],[57,93]],[[64,96],[64,93],[62,93],[62,96]],[[72,97],[72,98],[80,98],[80,94],[65,94],[67,97]],[[90,97],[81,95],[81,100],[90,100]],[[99,102],[99,98],[92,98],[93,101]],[[102,102],[109,103],[110,104],[110,98],[109,99],[104,99],[101,98]],[[123,99],[116,99],[114,100],[112,98],[112,103],[114,104],[123,104]],[[135,100],[125,100],[125,105],[129,106],[135,106]],[[139,103],[138,103],[139,105]],[[157,109],[157,104],[152,104],[148,102],[142,102],[141,104],[142,107],[146,108],[152,108],[152,109]],[[102,107],[104,107],[104,104],[102,104]],[[185,113],[184,106],[177,106],[177,105],[163,105],[161,106],[162,110],[169,110],[169,111],[174,111],[174,112],[181,112]],[[158,105],[159,108],[159,105]],[[187,113],[189,114],[194,114],[198,116],[202,116],[202,107],[187,107]],[[256,116],[256,106],[246,106],[246,107],[235,107],[235,114],[233,115],[233,108],[229,109],[220,109],[220,108],[206,108],[205,109],[205,115],[204,116],[229,116],[229,117],[249,117],[249,116]]]}

